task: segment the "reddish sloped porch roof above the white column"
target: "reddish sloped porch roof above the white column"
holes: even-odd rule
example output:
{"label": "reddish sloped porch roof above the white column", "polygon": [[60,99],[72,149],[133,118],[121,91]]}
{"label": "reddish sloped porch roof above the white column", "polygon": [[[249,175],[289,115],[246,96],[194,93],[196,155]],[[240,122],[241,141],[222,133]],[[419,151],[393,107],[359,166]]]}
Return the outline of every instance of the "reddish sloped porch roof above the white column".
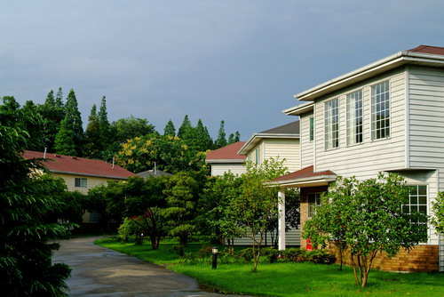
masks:
{"label": "reddish sloped porch roof above the white column", "polygon": [[337,175],[329,170],[314,172],[313,165],[311,165],[294,173],[288,173],[268,181],[267,185],[284,188],[327,186],[329,185],[329,182],[336,181],[336,177]]}

